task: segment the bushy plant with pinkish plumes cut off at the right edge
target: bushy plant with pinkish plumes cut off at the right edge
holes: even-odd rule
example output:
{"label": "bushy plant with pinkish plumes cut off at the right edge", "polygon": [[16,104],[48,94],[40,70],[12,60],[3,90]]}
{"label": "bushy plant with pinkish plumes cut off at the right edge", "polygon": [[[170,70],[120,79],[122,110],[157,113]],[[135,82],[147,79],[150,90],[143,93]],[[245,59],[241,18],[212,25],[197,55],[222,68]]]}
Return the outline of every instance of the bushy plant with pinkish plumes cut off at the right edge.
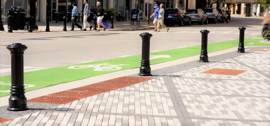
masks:
{"label": "bushy plant with pinkish plumes cut off at the right edge", "polygon": [[260,23],[263,25],[261,36],[263,37],[263,39],[267,39],[267,41],[270,41],[270,13],[264,12],[262,18],[263,21]]}

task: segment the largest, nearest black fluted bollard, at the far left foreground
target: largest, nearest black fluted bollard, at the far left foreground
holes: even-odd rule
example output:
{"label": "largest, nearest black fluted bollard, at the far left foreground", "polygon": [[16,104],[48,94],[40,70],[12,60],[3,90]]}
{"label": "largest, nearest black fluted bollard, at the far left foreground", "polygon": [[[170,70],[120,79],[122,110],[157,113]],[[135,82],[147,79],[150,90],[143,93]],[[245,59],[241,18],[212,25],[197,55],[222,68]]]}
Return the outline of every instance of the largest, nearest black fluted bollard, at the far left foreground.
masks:
{"label": "largest, nearest black fluted bollard, at the far left foreground", "polygon": [[27,46],[21,43],[13,43],[8,45],[7,49],[10,50],[11,54],[11,95],[8,99],[7,110],[24,111],[28,109],[23,85],[23,52],[27,49]]}

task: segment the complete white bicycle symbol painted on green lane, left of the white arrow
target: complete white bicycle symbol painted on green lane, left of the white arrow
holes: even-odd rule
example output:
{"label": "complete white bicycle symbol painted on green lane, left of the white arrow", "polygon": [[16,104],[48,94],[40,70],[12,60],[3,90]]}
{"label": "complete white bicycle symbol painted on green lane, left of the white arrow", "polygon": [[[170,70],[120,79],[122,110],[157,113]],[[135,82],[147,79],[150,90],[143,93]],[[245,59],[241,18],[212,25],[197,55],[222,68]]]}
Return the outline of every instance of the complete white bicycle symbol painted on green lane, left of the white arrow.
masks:
{"label": "complete white bicycle symbol painted on green lane, left of the white arrow", "polygon": [[70,66],[68,69],[83,69],[83,68],[95,68],[94,71],[114,71],[114,70],[120,70],[125,64],[118,64],[118,65],[111,65],[109,63],[102,63],[97,65],[75,65]]}

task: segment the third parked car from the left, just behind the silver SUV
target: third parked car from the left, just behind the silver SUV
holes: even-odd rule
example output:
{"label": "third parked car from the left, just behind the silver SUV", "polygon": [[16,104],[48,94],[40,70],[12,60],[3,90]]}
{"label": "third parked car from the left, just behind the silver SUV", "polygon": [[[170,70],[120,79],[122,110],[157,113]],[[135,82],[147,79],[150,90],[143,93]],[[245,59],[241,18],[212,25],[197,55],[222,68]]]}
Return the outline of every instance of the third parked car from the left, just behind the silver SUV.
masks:
{"label": "third parked car from the left, just behind the silver SUV", "polygon": [[203,9],[203,11],[206,13],[208,17],[208,21],[211,21],[212,23],[217,23],[217,21],[219,21],[219,23],[221,23],[221,14],[219,13],[217,9],[208,8],[208,9]]}

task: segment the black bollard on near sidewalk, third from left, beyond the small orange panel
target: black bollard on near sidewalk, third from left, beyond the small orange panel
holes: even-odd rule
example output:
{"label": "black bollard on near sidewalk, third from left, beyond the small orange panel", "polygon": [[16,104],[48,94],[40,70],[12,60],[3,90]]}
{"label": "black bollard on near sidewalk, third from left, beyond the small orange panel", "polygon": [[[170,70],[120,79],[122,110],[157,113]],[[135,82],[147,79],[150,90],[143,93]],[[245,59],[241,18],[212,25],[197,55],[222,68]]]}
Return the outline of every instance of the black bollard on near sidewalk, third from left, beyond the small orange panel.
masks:
{"label": "black bollard on near sidewalk, third from left, beyond the small orange panel", "polygon": [[208,55],[207,55],[207,36],[210,31],[208,30],[201,30],[200,33],[202,34],[202,50],[200,55],[199,62],[209,62]]}

